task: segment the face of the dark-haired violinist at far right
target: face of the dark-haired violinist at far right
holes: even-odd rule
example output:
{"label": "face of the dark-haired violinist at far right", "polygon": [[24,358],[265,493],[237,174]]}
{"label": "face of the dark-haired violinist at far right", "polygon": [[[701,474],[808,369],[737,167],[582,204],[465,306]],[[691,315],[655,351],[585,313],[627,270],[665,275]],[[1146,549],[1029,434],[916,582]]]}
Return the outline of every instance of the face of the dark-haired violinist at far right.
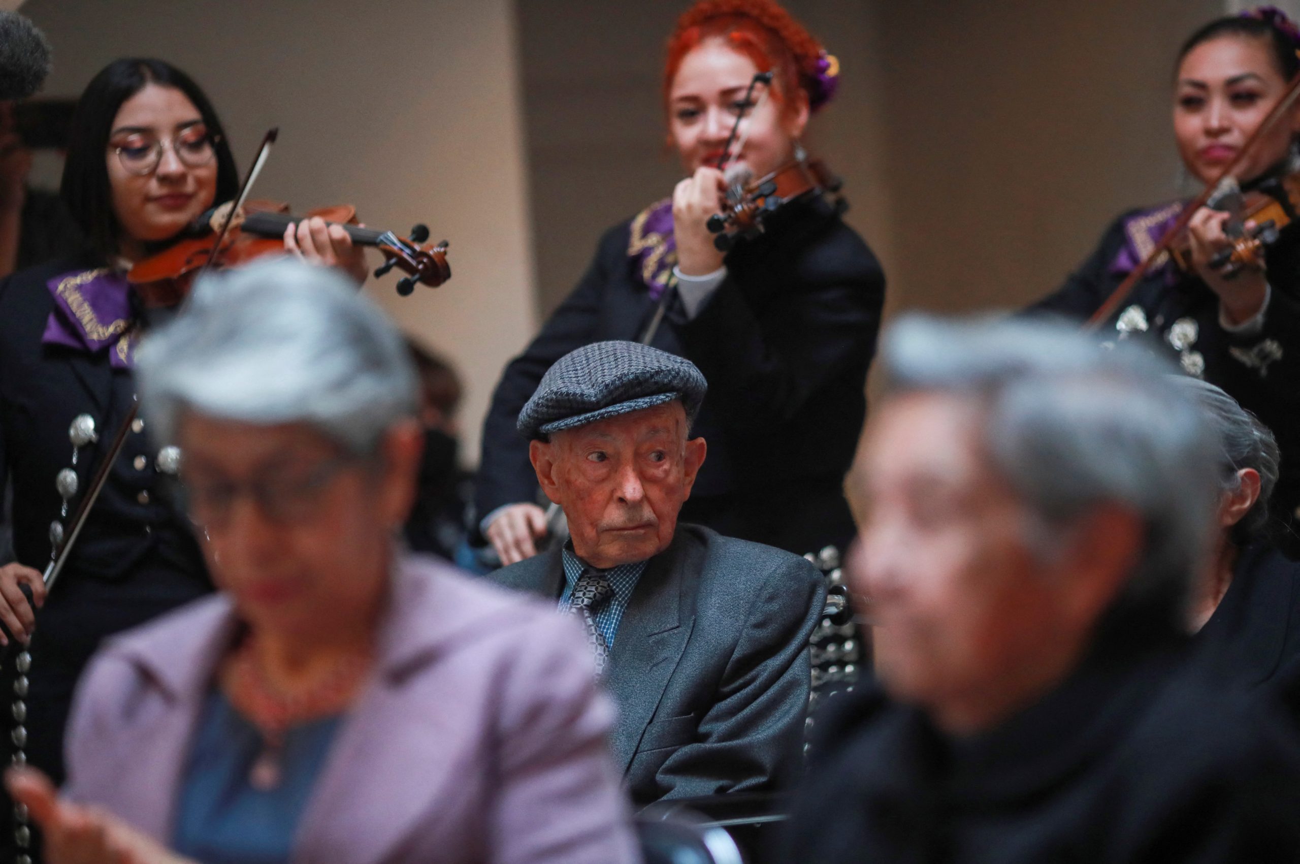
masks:
{"label": "face of the dark-haired violinist at far right", "polygon": [[[1225,35],[1188,51],[1174,86],[1174,135],[1187,170],[1202,183],[1212,182],[1286,88],[1262,39]],[[1282,161],[1297,130],[1300,112],[1292,109],[1251,151],[1238,178],[1254,180]]]}

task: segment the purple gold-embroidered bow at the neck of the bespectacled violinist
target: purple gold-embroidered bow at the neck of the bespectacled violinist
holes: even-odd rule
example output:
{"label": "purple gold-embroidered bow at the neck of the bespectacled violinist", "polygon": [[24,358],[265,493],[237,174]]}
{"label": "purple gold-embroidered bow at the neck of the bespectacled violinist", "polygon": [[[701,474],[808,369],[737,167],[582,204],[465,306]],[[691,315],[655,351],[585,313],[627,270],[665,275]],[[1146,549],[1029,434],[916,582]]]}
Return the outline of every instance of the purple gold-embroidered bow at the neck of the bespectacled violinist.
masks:
{"label": "purple gold-embroidered bow at the neck of the bespectacled violinist", "polygon": [[55,308],[40,341],[98,354],[109,349],[114,368],[131,368],[138,342],[131,328],[130,284],[121,271],[100,267],[61,273],[46,282]]}

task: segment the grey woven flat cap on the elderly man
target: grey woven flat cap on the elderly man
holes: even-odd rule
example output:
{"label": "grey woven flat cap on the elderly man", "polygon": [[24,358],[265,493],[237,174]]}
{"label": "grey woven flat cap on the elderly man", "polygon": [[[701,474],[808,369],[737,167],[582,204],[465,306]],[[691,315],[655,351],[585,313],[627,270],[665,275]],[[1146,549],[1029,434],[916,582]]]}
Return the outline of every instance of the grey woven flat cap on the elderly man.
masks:
{"label": "grey woven flat cap on the elderly man", "polygon": [[529,439],[543,439],[673,399],[694,422],[707,389],[690,360],[640,342],[594,342],[555,360],[516,425]]}

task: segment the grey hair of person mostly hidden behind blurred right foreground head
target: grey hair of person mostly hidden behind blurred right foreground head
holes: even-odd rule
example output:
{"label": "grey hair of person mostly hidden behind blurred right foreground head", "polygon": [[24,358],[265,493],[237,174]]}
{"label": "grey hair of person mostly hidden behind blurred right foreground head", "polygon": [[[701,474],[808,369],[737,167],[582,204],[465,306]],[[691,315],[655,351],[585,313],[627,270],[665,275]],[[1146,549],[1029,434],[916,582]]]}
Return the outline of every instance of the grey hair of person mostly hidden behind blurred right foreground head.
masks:
{"label": "grey hair of person mostly hidden behind blurred right foreground head", "polygon": [[1231,494],[1242,488],[1238,471],[1254,468],[1260,475],[1260,497],[1254,505],[1232,526],[1232,541],[1245,545],[1252,540],[1266,539],[1269,531],[1269,498],[1278,484],[1282,452],[1278,440],[1269,427],[1225,393],[1222,389],[1199,379],[1178,375],[1176,385],[1187,389],[1201,406],[1209,422],[1210,431],[1219,441],[1219,492]]}

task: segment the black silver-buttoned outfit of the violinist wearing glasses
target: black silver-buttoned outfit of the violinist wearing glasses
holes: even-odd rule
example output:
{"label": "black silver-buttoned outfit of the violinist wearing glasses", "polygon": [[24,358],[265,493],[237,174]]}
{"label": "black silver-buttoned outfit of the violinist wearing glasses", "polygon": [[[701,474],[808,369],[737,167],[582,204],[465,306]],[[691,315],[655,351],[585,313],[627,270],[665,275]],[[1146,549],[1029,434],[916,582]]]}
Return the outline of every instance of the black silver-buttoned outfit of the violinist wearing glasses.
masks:
{"label": "black silver-buttoned outfit of the violinist wearing glasses", "polygon": [[[0,282],[0,478],[13,481],[17,560],[36,570],[49,562],[49,524],[61,504],[55,475],[72,466],[73,418],[95,418],[100,439],[78,458],[84,491],[134,396],[131,373],[113,370],[107,350],[91,355],[40,341],[55,306],[46,282],[77,268],[78,262],[46,264]],[[27,753],[56,779],[72,688],[100,640],[212,589],[155,458],[144,433],[129,436],[68,567],[36,613]]]}

